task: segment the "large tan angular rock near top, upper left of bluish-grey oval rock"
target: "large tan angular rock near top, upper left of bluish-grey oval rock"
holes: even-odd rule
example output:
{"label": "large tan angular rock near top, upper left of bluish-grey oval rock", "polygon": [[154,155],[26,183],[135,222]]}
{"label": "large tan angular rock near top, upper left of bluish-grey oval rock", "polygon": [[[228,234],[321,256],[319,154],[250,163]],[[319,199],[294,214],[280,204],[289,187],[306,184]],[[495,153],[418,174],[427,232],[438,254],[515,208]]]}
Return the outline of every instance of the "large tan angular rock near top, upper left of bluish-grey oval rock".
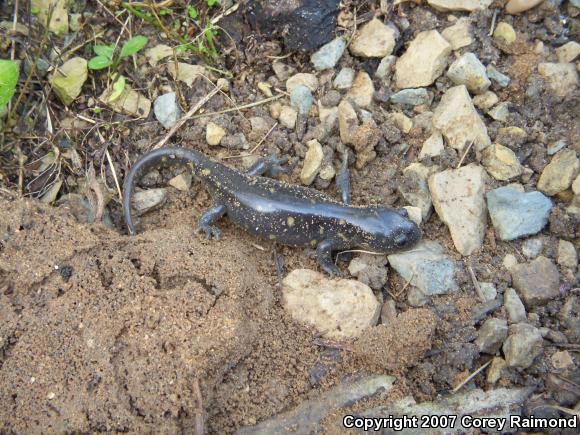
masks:
{"label": "large tan angular rock near top, upper left of bluish-grey oval rock", "polygon": [[399,89],[431,85],[445,69],[451,45],[437,30],[419,33],[397,60],[395,80]]}

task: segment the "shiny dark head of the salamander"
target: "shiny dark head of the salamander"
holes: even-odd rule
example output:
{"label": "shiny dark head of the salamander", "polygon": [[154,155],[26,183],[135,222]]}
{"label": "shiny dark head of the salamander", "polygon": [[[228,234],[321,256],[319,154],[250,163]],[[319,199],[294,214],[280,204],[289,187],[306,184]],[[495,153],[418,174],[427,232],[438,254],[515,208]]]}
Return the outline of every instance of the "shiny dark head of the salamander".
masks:
{"label": "shiny dark head of the salamander", "polygon": [[405,209],[376,207],[373,215],[363,227],[369,235],[366,240],[369,248],[391,253],[408,249],[421,240],[421,230]]}

